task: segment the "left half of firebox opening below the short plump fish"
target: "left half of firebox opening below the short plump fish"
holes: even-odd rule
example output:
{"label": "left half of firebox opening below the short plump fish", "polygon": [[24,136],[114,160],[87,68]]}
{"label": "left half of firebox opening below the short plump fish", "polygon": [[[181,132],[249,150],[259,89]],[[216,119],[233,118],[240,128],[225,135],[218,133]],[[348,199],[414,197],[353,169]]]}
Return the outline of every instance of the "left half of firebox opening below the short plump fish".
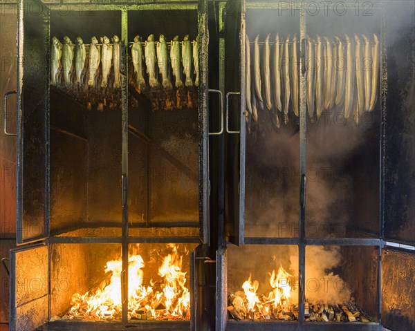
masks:
{"label": "left half of firebox opening below the short plump fish", "polygon": [[121,245],[51,244],[50,252],[54,321],[121,319]]}

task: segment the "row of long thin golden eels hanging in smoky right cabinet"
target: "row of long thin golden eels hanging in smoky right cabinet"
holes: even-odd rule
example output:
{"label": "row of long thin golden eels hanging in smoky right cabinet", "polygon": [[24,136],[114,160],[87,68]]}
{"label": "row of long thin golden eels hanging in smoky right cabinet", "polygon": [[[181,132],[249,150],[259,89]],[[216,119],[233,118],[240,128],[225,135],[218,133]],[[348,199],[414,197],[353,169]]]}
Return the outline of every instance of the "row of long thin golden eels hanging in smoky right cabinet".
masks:
{"label": "row of long thin golden eels hanging in smoky right cabinet", "polygon": [[[298,39],[246,36],[246,115],[257,122],[258,109],[272,111],[274,124],[288,122],[288,110],[299,116]],[[262,48],[260,47],[262,44]],[[308,116],[319,118],[326,109],[340,107],[356,121],[374,110],[378,95],[379,40],[348,35],[344,41],[316,36],[306,40],[306,103]],[[251,48],[253,50],[251,51]],[[262,54],[261,54],[262,53]],[[291,108],[290,108],[291,104]],[[281,120],[280,120],[281,118]]]}

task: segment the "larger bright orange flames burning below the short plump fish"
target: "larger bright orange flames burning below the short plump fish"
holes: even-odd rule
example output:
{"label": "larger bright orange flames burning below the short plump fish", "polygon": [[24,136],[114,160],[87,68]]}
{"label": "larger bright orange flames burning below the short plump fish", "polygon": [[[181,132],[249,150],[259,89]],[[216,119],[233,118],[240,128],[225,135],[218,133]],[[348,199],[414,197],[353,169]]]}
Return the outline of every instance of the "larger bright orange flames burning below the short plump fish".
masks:
{"label": "larger bright orange flames burning below the short plump fish", "polygon": [[[190,319],[190,292],[186,287],[186,272],[182,271],[183,255],[177,245],[167,245],[171,251],[158,268],[161,281],[151,279],[143,285],[145,262],[138,254],[139,246],[129,254],[129,318],[130,319]],[[185,254],[188,254],[187,250]],[[108,261],[108,274],[95,291],[73,294],[68,319],[119,319],[122,310],[122,259]]]}

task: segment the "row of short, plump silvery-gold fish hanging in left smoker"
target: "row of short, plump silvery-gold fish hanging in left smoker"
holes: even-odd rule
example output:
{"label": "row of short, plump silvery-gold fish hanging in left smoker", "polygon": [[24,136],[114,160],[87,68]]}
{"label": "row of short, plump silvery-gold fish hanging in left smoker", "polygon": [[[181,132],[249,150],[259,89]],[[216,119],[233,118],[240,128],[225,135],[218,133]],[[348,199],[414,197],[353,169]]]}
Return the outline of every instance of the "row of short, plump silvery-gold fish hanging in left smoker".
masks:
{"label": "row of short, plump silvery-gold fish hanging in left smoker", "polygon": [[[120,38],[115,35],[111,43],[109,37],[105,36],[101,37],[100,41],[101,44],[96,37],[92,37],[91,44],[86,45],[82,38],[77,37],[76,43],[73,44],[66,36],[62,44],[59,39],[53,37],[50,50],[50,83],[53,86],[64,84],[70,88],[73,85],[82,86],[86,79],[88,86],[120,88]],[[197,37],[196,40],[190,41],[189,35],[186,35],[183,41],[179,41],[179,37],[176,36],[167,43],[164,35],[160,35],[158,41],[154,41],[154,35],[149,35],[142,43],[142,38],[136,36],[131,43],[131,59],[139,91],[147,87],[147,82],[150,88],[199,86]],[[99,69],[101,69],[100,84],[98,84]],[[73,73],[75,73],[75,82],[73,82]],[[111,86],[109,86],[110,75]]]}

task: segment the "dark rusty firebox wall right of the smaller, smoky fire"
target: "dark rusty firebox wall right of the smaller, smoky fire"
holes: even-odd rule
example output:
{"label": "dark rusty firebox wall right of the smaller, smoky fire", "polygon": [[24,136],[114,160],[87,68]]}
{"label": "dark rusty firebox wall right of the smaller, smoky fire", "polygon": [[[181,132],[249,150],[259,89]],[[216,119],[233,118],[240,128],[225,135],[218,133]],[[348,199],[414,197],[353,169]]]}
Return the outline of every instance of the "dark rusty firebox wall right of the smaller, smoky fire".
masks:
{"label": "dark rusty firebox wall right of the smaller, smoky fire", "polygon": [[340,276],[351,290],[356,305],[378,321],[378,256],[379,247],[342,246],[343,263]]}

